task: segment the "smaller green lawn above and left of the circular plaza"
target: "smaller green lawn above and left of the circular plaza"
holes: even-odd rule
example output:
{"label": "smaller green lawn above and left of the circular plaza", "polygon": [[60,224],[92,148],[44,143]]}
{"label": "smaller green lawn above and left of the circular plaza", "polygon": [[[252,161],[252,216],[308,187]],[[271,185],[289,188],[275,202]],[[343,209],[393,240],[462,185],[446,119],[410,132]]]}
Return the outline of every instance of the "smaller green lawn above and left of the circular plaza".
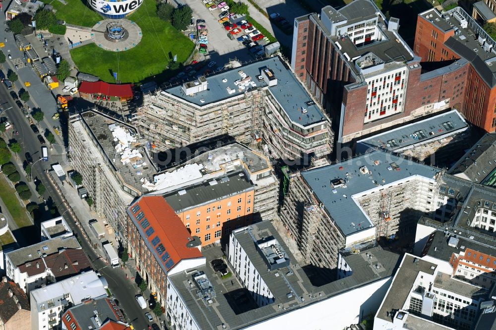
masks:
{"label": "smaller green lawn above and left of the circular plaza", "polygon": [[65,0],[67,4],[63,4],[59,0],[52,0],[49,4],[57,9],[57,19],[62,19],[68,24],[79,26],[92,27],[103,17],[95,10],[86,5],[85,0]]}

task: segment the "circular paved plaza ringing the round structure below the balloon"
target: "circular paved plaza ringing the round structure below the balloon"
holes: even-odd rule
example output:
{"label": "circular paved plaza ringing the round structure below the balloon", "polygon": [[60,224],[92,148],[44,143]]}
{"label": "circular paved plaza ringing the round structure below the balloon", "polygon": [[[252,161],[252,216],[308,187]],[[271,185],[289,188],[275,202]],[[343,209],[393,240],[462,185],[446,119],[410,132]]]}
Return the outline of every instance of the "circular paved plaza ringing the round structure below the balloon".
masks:
{"label": "circular paved plaza ringing the round structure below the balloon", "polygon": [[[124,27],[124,36],[120,39],[109,37],[107,26],[110,23],[119,22]],[[128,19],[104,19],[93,26],[91,40],[100,48],[111,52],[124,52],[136,47],[141,41],[141,29],[136,23]]]}

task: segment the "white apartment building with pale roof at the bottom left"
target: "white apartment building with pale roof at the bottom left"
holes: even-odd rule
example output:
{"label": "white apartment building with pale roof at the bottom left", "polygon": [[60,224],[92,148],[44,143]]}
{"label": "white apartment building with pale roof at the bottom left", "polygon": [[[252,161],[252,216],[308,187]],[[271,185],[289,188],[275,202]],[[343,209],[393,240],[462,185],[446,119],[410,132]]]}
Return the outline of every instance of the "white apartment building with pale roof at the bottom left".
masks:
{"label": "white apartment building with pale roof at the bottom left", "polygon": [[107,287],[105,277],[91,271],[31,291],[31,329],[59,329],[62,313],[69,304],[105,297]]}

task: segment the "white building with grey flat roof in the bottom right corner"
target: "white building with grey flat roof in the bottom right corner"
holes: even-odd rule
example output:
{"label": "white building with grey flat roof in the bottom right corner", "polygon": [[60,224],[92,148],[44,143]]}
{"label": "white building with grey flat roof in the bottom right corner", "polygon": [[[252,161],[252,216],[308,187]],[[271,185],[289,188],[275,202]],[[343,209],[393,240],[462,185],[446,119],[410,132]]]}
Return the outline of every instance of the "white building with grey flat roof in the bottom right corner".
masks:
{"label": "white building with grey flat roof in the bottom right corner", "polygon": [[405,254],[374,319],[374,330],[472,329],[489,291]]}

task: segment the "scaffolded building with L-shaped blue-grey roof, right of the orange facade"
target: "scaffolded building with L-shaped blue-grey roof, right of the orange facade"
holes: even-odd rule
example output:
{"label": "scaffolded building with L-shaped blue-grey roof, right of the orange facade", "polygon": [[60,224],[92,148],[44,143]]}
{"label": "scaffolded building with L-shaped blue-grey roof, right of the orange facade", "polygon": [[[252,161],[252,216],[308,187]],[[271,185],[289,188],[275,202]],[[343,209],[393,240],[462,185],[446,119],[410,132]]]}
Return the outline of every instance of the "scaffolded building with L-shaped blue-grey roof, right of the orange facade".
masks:
{"label": "scaffolded building with L-shaped blue-grey roof, right of the orange facade", "polygon": [[335,269],[343,249],[414,233],[435,212],[442,173],[384,151],[288,173],[280,218],[307,263]]}

